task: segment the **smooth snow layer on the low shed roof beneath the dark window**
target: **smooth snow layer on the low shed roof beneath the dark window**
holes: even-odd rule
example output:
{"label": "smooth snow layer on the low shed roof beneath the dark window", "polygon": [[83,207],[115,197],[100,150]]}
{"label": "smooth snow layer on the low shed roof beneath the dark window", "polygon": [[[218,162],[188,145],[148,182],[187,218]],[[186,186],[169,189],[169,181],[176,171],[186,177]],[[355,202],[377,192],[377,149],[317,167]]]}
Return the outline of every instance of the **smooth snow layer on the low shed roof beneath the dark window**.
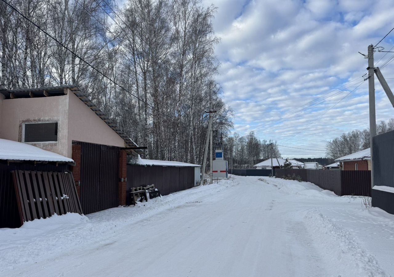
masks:
{"label": "smooth snow layer on the low shed roof beneath the dark window", "polygon": [[74,162],[74,160],[54,152],[8,139],[0,139],[0,160]]}

